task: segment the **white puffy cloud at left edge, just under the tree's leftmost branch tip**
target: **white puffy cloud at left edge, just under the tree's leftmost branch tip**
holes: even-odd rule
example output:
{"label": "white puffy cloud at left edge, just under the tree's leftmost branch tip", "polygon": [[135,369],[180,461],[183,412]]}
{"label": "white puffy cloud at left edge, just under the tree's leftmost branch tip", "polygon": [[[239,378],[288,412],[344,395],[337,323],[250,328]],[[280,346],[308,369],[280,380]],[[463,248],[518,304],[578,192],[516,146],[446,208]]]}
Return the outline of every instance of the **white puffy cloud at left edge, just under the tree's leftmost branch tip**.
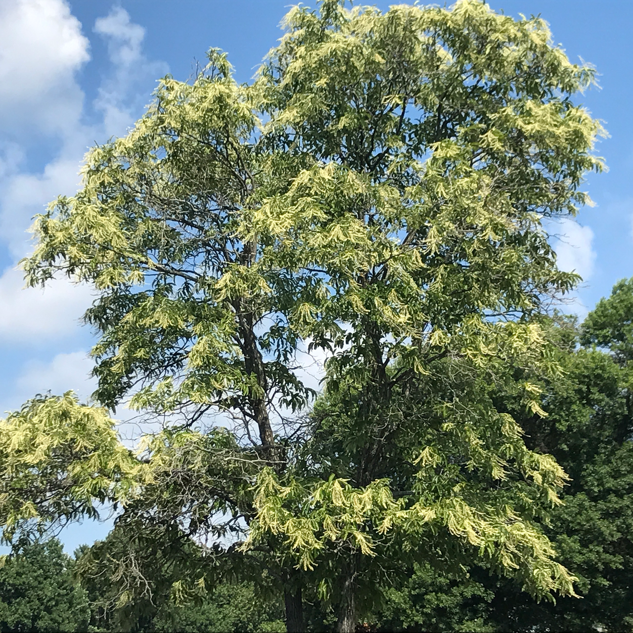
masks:
{"label": "white puffy cloud at left edge, just under the tree's leftmost branch tip", "polygon": [[22,272],[8,268],[0,277],[0,341],[37,344],[78,334],[79,319],[92,303],[91,289],[54,280],[46,290],[24,288]]}

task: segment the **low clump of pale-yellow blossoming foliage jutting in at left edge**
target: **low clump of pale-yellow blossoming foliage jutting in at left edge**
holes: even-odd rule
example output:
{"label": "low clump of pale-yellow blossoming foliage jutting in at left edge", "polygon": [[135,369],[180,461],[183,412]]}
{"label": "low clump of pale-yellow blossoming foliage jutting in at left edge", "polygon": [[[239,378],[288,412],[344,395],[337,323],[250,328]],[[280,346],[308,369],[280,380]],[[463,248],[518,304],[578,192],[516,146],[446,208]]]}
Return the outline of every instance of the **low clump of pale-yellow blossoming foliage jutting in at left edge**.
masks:
{"label": "low clump of pale-yellow blossoming foliage jutting in at left edge", "polygon": [[126,503],[144,476],[107,411],[71,391],[0,421],[0,465],[4,538],[28,520],[96,516],[98,503]]}

